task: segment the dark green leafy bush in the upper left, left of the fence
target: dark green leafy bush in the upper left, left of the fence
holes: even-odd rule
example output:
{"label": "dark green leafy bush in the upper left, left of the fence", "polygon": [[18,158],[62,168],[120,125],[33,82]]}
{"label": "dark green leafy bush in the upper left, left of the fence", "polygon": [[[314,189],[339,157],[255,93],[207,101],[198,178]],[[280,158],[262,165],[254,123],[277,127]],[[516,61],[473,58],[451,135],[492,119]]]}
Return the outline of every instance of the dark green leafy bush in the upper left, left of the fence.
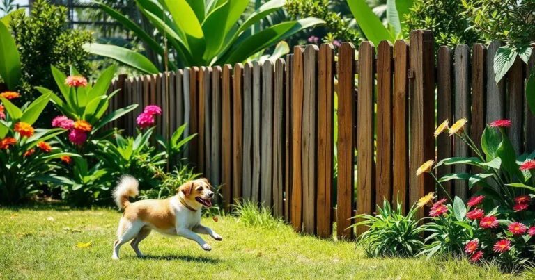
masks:
{"label": "dark green leafy bush in the upper left, left of the fence", "polygon": [[40,85],[58,90],[50,65],[56,65],[61,72],[67,72],[70,65],[87,75],[88,52],[82,45],[91,42],[91,33],[68,29],[67,8],[55,6],[47,0],[36,0],[31,15],[14,13],[10,26],[22,62],[22,97],[33,100],[39,94],[33,89]]}

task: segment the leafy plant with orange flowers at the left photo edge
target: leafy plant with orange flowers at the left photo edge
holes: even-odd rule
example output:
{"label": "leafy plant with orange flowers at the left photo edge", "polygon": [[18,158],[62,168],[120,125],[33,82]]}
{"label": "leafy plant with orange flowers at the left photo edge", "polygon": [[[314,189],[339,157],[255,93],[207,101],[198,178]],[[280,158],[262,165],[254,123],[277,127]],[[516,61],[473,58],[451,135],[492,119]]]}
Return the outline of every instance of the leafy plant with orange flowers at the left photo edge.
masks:
{"label": "leafy plant with orange flowers at the left photo edge", "polygon": [[[38,192],[43,183],[61,181],[54,175],[59,166],[54,159],[77,156],[52,147],[47,141],[63,129],[34,129],[49,95],[39,97],[22,108],[11,103],[16,92],[0,94],[0,203],[13,204]],[[5,109],[4,109],[5,108]],[[4,111],[5,110],[5,111]]]}

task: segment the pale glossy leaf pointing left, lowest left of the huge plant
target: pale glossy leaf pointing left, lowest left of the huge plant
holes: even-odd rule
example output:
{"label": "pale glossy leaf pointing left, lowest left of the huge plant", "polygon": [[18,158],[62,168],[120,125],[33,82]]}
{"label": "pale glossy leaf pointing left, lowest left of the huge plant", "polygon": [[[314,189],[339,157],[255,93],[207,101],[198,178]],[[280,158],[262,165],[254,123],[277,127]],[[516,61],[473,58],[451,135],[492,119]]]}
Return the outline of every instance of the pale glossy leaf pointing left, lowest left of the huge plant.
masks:
{"label": "pale glossy leaf pointing left, lowest left of the huge plant", "polygon": [[145,72],[146,74],[157,74],[158,72],[160,72],[157,67],[150,62],[148,58],[141,55],[140,53],[131,51],[130,49],[114,46],[111,44],[97,43],[84,44],[84,49],[97,56],[113,58],[114,60],[117,60],[120,63],[124,63],[125,65],[128,65],[130,67],[134,67],[135,69],[138,69],[141,72]]}

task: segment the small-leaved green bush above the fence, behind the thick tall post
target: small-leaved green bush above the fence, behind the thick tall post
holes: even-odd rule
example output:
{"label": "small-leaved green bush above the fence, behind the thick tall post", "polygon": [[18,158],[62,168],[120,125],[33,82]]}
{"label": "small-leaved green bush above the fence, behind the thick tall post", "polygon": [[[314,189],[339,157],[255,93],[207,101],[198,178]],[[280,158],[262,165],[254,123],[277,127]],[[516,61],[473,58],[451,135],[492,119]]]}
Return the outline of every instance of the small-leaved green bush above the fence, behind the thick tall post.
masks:
{"label": "small-leaved green bush above the fence, behind the thick tall post", "polygon": [[415,29],[432,30],[435,49],[481,42],[481,33],[470,27],[470,17],[463,12],[463,0],[414,0],[410,13],[405,15],[405,33]]}

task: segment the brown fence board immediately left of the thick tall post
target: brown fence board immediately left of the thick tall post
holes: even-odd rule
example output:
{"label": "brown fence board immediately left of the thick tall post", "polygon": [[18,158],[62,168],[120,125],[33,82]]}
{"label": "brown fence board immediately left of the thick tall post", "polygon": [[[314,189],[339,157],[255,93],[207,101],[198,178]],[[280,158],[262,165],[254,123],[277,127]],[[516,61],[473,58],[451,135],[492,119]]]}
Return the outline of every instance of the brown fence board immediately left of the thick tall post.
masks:
{"label": "brown fence board immediately left of the thick tall post", "polygon": [[394,44],[394,188],[396,197],[404,208],[408,208],[408,171],[409,171],[409,83],[407,70],[409,69],[409,46],[403,40]]}

